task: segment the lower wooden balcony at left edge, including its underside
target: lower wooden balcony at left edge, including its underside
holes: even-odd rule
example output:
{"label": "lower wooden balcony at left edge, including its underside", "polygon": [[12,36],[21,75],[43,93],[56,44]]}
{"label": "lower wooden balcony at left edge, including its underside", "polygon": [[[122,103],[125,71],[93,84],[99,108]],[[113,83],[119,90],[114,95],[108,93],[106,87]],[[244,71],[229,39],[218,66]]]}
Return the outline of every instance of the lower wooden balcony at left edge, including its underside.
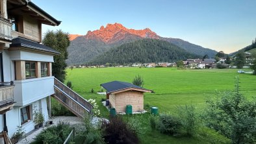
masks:
{"label": "lower wooden balcony at left edge, including its underside", "polygon": [[12,109],[14,105],[13,82],[0,82],[0,114]]}

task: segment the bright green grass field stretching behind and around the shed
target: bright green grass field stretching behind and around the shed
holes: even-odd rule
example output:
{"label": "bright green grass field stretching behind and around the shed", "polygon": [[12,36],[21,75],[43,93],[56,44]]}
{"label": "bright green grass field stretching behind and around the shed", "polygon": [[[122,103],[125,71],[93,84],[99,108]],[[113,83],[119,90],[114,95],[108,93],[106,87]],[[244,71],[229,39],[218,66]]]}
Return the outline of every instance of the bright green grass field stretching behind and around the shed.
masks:
{"label": "bright green grass field stretching behind and around the shed", "polygon": [[[214,96],[215,91],[233,90],[235,77],[240,78],[240,90],[251,99],[256,93],[256,76],[248,73],[237,73],[237,69],[184,69],[138,68],[138,67],[107,67],[67,69],[67,79],[73,85],[73,90],[86,99],[96,99],[100,102],[105,95],[91,93],[101,91],[99,84],[120,80],[132,82],[135,75],[144,78],[144,88],[155,91],[145,93],[144,105],[157,106],[159,112],[173,112],[177,105],[194,104],[197,110],[203,110],[205,99]],[[99,104],[103,117],[109,117],[109,112]],[[173,138],[159,132],[149,130],[147,115],[145,121],[146,134],[140,136],[142,143],[199,143],[194,138]],[[200,140],[201,141],[201,140]],[[205,141],[207,143],[207,141]]]}

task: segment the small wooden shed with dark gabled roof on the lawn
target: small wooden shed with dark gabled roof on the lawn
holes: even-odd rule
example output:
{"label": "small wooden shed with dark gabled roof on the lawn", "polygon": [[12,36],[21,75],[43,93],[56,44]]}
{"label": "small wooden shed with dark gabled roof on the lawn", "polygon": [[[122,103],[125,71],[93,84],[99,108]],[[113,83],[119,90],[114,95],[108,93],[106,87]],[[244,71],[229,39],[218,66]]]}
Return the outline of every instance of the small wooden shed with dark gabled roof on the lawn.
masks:
{"label": "small wooden shed with dark gabled roof on the lawn", "polygon": [[133,112],[144,110],[144,92],[153,92],[127,82],[113,81],[101,84],[107,90],[110,107],[116,112],[125,112],[127,105],[133,106]]}

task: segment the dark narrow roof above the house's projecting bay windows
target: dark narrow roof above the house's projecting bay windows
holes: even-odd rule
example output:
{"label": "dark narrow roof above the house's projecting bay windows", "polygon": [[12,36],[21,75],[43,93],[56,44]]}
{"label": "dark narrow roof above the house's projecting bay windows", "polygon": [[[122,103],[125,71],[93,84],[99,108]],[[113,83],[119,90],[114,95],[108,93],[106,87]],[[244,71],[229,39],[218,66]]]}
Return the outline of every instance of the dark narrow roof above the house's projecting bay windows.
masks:
{"label": "dark narrow roof above the house's projecting bay windows", "polygon": [[10,44],[10,47],[25,47],[25,48],[36,50],[36,51],[44,51],[47,53],[60,54],[58,51],[56,51],[51,47],[47,47],[38,42],[34,42],[32,40],[27,40],[25,38],[20,38],[20,37],[12,39],[12,44]]}

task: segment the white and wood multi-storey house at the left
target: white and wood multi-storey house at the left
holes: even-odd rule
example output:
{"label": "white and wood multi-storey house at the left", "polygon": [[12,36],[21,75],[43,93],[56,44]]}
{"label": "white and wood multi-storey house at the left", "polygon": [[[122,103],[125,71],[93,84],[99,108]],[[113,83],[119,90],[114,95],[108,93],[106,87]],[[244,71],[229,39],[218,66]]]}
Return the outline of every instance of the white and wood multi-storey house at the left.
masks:
{"label": "white and wood multi-storey house at the left", "polygon": [[42,24],[60,21],[31,1],[0,1],[0,131],[12,137],[17,126],[34,130],[34,112],[49,118],[47,102],[55,93],[51,65],[59,53],[40,44]]}

